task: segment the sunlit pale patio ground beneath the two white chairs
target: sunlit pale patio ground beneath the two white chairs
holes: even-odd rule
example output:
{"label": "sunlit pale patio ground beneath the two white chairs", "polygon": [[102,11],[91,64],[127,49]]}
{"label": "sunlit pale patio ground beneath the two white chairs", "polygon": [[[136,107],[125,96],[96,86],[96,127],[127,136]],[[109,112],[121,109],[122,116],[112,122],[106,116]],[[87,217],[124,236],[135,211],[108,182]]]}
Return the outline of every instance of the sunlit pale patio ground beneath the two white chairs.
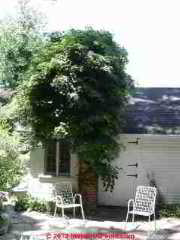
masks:
{"label": "sunlit pale patio ground beneath the two white chairs", "polygon": [[[8,210],[11,226],[6,235],[0,236],[1,240],[18,240],[21,239],[22,235],[24,235],[22,239],[30,239],[30,236],[37,237],[33,239],[63,239],[62,236],[60,238],[60,235],[57,235],[57,233],[101,234],[96,239],[102,238],[102,234],[105,233],[124,233],[127,234],[127,237],[131,237],[129,239],[133,239],[134,236],[134,239],[137,240],[180,239],[179,219],[164,218],[157,220],[157,231],[154,232],[153,221],[148,223],[145,219],[141,219],[141,221],[138,220],[135,223],[126,224],[123,215],[126,213],[125,208],[98,207],[97,211],[92,214],[92,216],[86,216],[86,220],[82,220],[81,218],[73,219],[70,215],[68,215],[69,218],[63,219],[60,216],[53,217],[52,215],[38,212],[17,213],[14,212],[12,208]],[[120,236],[121,235],[119,235],[117,239],[126,239],[124,236],[123,238],[120,238]],[[77,239],[78,238],[80,237],[77,237]],[[64,239],[67,239],[67,235]]]}

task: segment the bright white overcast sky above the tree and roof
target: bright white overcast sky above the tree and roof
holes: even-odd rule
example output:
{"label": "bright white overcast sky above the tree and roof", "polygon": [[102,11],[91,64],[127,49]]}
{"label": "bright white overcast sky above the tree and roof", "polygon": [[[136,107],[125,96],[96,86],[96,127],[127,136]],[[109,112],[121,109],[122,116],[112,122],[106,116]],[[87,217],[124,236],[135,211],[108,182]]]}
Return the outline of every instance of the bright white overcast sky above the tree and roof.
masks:
{"label": "bright white overcast sky above the tree and roof", "polygon": [[[180,87],[180,0],[32,0],[49,30],[110,31],[128,51],[126,71],[139,87]],[[0,18],[16,0],[0,0]]]}

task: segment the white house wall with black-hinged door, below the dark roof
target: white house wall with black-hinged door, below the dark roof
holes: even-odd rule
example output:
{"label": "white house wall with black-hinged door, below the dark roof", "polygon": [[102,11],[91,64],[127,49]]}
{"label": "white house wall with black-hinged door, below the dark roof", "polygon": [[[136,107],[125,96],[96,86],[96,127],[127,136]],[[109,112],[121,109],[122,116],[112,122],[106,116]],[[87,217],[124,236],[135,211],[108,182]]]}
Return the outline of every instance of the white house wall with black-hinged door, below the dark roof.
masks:
{"label": "white house wall with black-hinged door, below the dark roof", "polygon": [[[135,142],[139,138],[138,144]],[[123,134],[125,149],[114,160],[122,168],[114,191],[104,192],[99,182],[98,201],[101,205],[124,205],[133,198],[136,186],[154,180],[166,203],[180,201],[180,136]],[[138,163],[138,167],[129,166]],[[134,177],[135,175],[138,177]],[[132,176],[128,176],[132,175]]]}

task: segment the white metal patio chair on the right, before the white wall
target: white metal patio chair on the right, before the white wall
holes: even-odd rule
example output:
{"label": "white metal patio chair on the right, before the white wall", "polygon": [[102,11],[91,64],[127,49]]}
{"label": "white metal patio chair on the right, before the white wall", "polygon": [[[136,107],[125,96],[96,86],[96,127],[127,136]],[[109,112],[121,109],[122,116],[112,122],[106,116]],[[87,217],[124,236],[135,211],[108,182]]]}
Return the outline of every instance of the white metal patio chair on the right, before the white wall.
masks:
{"label": "white metal patio chair on the right, before the white wall", "polygon": [[[141,215],[151,220],[151,215],[154,216],[155,228],[156,228],[156,217],[155,217],[155,201],[156,201],[157,190],[155,187],[149,186],[138,186],[136,189],[135,200],[130,199],[128,201],[128,211],[126,216],[126,222],[128,221],[129,214],[132,214],[132,221],[134,222],[135,215]],[[132,203],[132,209],[130,209]]]}

